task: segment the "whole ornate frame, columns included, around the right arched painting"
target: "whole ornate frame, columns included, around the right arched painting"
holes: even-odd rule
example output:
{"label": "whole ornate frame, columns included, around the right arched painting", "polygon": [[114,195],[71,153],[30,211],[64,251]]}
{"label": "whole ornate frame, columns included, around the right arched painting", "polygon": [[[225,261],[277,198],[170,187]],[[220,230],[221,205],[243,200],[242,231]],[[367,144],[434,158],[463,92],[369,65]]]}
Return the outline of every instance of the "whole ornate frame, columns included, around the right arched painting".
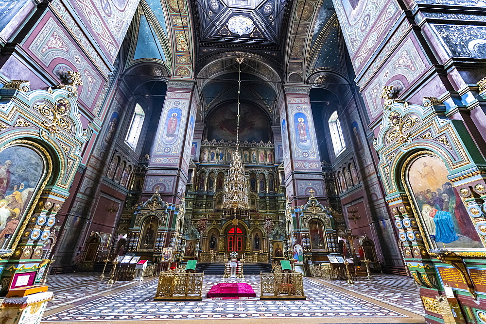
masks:
{"label": "whole ornate frame, columns included, around the right arched painting", "polygon": [[[405,260],[412,258],[411,254],[414,258],[425,260],[430,258],[429,255],[440,257],[431,245],[429,231],[422,221],[423,212],[417,210],[414,193],[407,182],[409,165],[427,156],[444,163],[447,181],[457,189],[471,224],[485,247],[472,249],[474,251],[471,248],[453,248],[454,256],[485,257],[486,222],[482,204],[486,201],[486,161],[477,149],[480,144],[471,138],[462,120],[451,120],[445,116],[446,107],[437,98],[424,97],[422,105],[410,105],[392,99],[391,92],[391,86],[383,88],[382,127],[374,146],[380,159],[378,168],[385,200],[395,216],[399,239],[404,243]],[[419,275],[429,280],[432,273],[420,270],[417,278],[421,279]],[[421,282],[417,278],[417,282]]]}

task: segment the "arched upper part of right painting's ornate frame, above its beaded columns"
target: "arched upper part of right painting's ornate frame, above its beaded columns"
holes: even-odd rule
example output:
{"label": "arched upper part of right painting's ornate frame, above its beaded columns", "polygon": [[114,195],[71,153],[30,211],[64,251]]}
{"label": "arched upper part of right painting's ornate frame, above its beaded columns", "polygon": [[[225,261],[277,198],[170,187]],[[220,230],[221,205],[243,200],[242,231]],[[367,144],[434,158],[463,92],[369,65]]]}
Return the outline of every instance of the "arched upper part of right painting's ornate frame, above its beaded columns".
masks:
{"label": "arched upper part of right painting's ornate frame, above its beaded columns", "polygon": [[[391,87],[385,87],[391,91]],[[378,152],[378,167],[388,196],[398,193],[399,182],[393,178],[411,154],[430,150],[444,161],[450,180],[473,176],[486,168],[475,141],[463,121],[445,116],[446,107],[437,98],[424,98],[423,105],[409,105],[388,98],[383,107],[382,127],[373,145]],[[459,133],[461,131],[461,134]]]}

